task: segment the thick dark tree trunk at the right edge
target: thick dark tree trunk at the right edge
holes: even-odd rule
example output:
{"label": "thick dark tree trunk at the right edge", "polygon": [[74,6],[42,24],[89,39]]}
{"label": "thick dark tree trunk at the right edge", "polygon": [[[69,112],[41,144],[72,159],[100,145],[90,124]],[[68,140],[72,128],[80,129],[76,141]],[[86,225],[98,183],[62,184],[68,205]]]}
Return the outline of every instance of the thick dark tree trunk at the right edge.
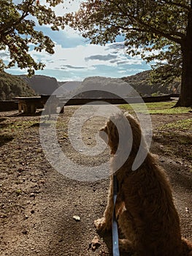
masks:
{"label": "thick dark tree trunk at the right edge", "polygon": [[175,107],[190,107],[192,106],[192,10],[188,14],[188,26],[181,50],[183,53],[181,91]]}

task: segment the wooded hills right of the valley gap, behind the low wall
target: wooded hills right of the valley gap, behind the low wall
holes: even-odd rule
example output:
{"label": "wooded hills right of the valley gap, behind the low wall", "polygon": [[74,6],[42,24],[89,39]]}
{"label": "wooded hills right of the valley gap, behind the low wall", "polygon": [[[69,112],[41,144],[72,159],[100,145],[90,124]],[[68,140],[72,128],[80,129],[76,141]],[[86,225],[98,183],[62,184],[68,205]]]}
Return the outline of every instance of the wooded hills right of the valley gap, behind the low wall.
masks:
{"label": "wooded hills right of the valley gap, behind the low wall", "polygon": [[[149,78],[150,70],[124,78],[104,78],[99,76],[89,77],[85,78],[79,86],[72,90],[71,95],[76,94],[77,97],[85,98],[110,98],[115,97],[115,95],[110,94],[110,91],[116,91],[117,95],[121,95],[123,97],[134,97],[136,95],[134,95],[134,91],[131,91],[130,86],[141,96],[180,93],[180,79],[174,80],[169,86],[162,86],[161,83],[150,85]],[[83,93],[81,93],[82,91]]]}

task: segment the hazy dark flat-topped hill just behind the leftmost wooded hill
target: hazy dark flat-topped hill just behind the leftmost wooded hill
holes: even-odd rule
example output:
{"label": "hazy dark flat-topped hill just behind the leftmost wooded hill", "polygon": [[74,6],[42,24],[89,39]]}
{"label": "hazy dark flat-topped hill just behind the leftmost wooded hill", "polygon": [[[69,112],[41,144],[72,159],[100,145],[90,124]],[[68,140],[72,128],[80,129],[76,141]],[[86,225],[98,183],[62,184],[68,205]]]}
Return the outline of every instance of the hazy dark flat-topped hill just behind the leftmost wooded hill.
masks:
{"label": "hazy dark flat-topped hill just behind the leftmost wooded hill", "polygon": [[26,75],[20,75],[20,78],[23,78],[23,80],[25,80],[39,95],[53,94],[53,91],[58,89],[58,82],[56,78],[46,75],[34,75],[31,78],[28,78]]}

